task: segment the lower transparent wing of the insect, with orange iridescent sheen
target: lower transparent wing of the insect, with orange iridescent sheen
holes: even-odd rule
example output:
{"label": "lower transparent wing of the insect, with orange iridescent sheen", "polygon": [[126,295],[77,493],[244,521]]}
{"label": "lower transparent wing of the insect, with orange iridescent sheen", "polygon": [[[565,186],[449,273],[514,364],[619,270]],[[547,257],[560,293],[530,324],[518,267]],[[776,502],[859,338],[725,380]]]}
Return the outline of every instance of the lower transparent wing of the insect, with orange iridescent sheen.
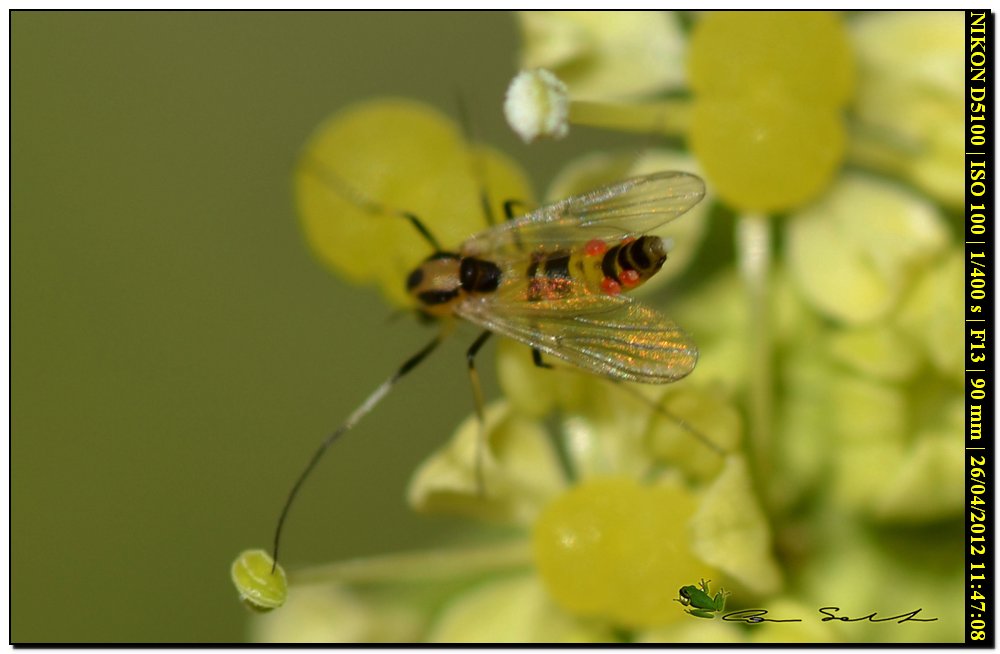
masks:
{"label": "lower transparent wing of the insect, with orange iridescent sheen", "polygon": [[591,372],[665,384],[694,370],[698,349],[680,327],[626,295],[578,295],[538,302],[470,297],[456,312]]}

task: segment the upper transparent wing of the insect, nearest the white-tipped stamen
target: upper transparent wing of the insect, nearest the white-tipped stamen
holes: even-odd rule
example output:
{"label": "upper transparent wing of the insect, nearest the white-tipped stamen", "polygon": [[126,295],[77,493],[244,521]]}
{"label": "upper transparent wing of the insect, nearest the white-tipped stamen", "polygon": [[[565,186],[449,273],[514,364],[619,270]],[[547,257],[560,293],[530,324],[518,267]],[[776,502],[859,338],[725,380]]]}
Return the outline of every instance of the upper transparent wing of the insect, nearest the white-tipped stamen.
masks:
{"label": "upper transparent wing of the insect, nearest the white-tipped stamen", "polygon": [[644,234],[698,204],[705,195],[700,177],[659,172],[633,177],[542,207],[480,232],[462,244],[466,256],[512,255],[546,248],[572,248],[590,241]]}

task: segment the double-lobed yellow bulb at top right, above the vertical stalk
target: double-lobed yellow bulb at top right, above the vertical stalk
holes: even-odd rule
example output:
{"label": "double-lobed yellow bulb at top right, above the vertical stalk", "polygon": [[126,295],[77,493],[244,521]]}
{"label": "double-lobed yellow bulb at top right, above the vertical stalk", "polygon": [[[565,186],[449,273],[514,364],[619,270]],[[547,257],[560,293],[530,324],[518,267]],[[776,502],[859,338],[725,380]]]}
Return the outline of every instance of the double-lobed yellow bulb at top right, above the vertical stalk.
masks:
{"label": "double-lobed yellow bulb at top right, above the vertical stalk", "polygon": [[825,12],[705,15],[689,48],[691,150],[722,199],[782,211],[816,197],[840,166],[854,67]]}

